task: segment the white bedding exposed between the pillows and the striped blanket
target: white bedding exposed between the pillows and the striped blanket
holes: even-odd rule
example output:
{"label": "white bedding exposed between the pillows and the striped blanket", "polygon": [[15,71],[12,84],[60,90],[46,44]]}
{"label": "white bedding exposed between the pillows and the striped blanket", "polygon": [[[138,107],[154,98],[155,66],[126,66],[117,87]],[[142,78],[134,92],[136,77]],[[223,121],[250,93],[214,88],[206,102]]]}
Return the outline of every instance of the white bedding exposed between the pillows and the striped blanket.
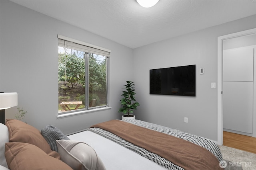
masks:
{"label": "white bedding exposed between the pillows and the striped blanket", "polygon": [[94,148],[107,170],[166,170],[132,150],[90,131],[69,135],[68,138]]}

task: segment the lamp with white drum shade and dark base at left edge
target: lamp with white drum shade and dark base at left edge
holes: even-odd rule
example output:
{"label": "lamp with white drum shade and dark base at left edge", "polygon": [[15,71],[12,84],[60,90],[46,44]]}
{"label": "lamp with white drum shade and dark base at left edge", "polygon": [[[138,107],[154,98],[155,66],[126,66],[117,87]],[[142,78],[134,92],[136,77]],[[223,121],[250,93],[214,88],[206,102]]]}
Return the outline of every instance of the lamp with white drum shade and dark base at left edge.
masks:
{"label": "lamp with white drum shade and dark base at left edge", "polygon": [[0,92],[0,123],[5,124],[5,109],[18,105],[18,94]]}

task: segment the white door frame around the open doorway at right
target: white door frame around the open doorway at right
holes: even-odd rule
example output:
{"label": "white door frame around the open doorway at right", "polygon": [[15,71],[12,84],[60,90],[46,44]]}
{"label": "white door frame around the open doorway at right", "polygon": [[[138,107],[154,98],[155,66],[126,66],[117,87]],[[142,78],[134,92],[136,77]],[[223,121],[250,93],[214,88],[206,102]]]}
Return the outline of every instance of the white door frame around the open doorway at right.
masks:
{"label": "white door frame around the open doorway at right", "polygon": [[218,95],[217,95],[217,144],[223,145],[223,106],[222,106],[222,54],[223,54],[223,41],[235,37],[242,37],[256,33],[256,28],[246,31],[240,31],[228,35],[218,37]]}

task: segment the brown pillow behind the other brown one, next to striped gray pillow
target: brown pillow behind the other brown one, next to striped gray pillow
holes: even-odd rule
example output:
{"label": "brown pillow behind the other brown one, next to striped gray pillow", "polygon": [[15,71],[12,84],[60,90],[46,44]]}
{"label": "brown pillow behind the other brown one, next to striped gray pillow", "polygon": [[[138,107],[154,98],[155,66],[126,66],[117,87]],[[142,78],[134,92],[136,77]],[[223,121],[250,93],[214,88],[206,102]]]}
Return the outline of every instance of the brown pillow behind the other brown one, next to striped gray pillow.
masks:
{"label": "brown pillow behind the other brown one, next to striped gray pillow", "polygon": [[9,131],[9,142],[22,142],[36,145],[48,155],[60,159],[60,154],[51,150],[41,132],[35,127],[16,119],[6,119],[5,125]]}

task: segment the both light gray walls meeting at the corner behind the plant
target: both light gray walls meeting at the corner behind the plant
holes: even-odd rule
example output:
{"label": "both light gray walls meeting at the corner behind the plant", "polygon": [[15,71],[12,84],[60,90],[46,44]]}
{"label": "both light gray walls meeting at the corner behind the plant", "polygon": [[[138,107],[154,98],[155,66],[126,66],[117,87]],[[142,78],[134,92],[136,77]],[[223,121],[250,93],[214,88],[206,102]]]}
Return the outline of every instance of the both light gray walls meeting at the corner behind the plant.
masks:
{"label": "both light gray walls meeting at the corner behind the plant", "polygon": [[[180,129],[217,141],[217,37],[256,27],[256,16],[225,23],[166,41],[130,49],[12,2],[0,1],[0,90],[18,92],[24,121],[42,129],[52,124],[72,133],[94,123],[119,119],[121,88],[134,80],[140,107],[137,119]],[[112,109],[57,119],[57,34],[112,51],[110,106]],[[132,67],[123,69],[122,64]],[[196,97],[149,94],[149,69],[196,64]],[[205,74],[199,74],[199,68]],[[119,90],[120,89],[120,90]],[[13,118],[16,108],[6,110]],[[188,123],[184,123],[188,117]]]}

